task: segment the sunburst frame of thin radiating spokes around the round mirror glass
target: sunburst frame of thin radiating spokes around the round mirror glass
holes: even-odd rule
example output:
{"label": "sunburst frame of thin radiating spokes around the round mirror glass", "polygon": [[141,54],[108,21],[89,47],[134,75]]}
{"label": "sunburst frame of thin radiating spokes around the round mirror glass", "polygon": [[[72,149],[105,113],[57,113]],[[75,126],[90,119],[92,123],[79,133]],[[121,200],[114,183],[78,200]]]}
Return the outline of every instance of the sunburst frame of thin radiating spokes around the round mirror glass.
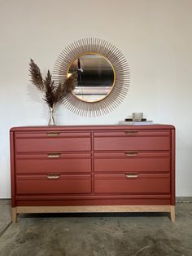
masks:
{"label": "sunburst frame of thin radiating spokes around the round mirror glass", "polygon": [[64,99],[63,104],[81,116],[98,117],[110,113],[127,95],[130,82],[129,64],[120,50],[110,42],[98,38],[80,39],[67,46],[56,60],[53,70],[55,84],[58,85],[67,77],[70,65],[78,56],[87,53],[103,55],[111,63],[115,71],[115,84],[111,92],[99,101],[86,102],[71,93]]}

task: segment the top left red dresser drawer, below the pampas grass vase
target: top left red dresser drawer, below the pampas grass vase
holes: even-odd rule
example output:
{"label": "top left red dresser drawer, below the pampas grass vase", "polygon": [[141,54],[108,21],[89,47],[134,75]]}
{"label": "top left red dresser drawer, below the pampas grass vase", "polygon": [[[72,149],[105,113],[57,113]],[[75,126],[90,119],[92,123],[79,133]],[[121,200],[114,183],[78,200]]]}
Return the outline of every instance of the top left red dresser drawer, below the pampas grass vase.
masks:
{"label": "top left red dresser drawer, below the pampas grass vase", "polygon": [[90,151],[89,132],[16,133],[15,152]]}

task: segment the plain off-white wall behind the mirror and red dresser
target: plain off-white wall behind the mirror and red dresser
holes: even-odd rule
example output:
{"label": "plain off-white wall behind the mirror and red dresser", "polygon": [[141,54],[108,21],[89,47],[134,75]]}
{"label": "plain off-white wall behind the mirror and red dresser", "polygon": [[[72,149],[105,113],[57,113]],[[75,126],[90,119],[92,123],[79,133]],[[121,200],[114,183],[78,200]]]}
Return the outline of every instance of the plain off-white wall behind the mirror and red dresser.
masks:
{"label": "plain off-white wall behind the mirror and red dresser", "polygon": [[65,46],[103,38],[129,61],[129,94],[99,118],[61,106],[57,123],[115,124],[132,112],[177,128],[177,196],[192,196],[192,1],[0,0],[0,197],[10,197],[9,129],[46,125],[48,110],[29,82],[33,58],[46,73]]}

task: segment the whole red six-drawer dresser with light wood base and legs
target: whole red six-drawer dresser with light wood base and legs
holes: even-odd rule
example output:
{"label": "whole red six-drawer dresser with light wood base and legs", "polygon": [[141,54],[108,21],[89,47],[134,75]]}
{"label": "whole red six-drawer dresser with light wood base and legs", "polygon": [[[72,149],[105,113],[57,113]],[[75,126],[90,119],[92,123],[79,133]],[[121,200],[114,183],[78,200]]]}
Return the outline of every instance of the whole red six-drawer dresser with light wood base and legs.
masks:
{"label": "whole red six-drawer dresser with light wood base and legs", "polygon": [[175,128],[11,129],[12,220],[20,213],[168,212],[175,218]]}

